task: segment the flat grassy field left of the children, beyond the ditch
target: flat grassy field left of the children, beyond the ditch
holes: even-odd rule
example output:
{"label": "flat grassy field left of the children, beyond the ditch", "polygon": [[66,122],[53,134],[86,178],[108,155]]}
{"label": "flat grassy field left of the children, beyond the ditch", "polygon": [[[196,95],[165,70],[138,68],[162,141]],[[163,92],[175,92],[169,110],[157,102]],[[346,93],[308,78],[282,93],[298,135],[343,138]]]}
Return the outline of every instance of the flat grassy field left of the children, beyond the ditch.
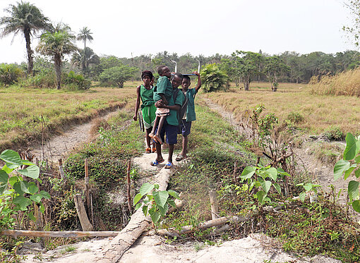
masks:
{"label": "flat grassy field left of the children, beyond the ditch", "polygon": [[69,92],[28,88],[0,89],[0,149],[19,147],[41,135],[42,118],[50,133],[82,123],[104,111],[124,106],[135,97],[138,82],[123,89],[92,87]]}

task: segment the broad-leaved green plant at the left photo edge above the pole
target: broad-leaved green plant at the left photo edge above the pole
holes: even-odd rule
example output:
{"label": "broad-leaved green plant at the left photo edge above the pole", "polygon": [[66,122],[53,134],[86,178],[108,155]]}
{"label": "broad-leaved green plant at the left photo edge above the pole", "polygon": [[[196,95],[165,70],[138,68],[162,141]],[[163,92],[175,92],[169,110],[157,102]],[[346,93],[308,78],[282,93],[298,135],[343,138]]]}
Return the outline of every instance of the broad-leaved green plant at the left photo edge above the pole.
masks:
{"label": "broad-leaved green plant at the left photo edge above the pole", "polygon": [[[11,225],[13,220],[11,216],[16,211],[28,211],[32,204],[40,204],[40,211],[44,212],[42,199],[49,199],[50,195],[44,190],[39,192],[39,188],[34,182],[24,181],[22,176],[40,181],[40,169],[35,164],[27,160],[22,160],[17,152],[6,149],[1,152],[0,159],[5,161],[4,167],[0,170],[0,219],[1,224]],[[21,166],[28,166],[20,169]],[[20,176],[20,175],[22,176]],[[24,196],[27,194],[29,197]],[[36,220],[34,214],[30,211],[28,216]]]}

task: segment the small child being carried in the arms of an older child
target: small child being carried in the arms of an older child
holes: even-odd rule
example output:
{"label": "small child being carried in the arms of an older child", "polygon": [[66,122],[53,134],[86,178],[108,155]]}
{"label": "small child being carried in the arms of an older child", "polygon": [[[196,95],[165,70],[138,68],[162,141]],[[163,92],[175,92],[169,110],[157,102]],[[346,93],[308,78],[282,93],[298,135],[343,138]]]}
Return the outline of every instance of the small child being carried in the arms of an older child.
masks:
{"label": "small child being carried in the arms of an older child", "polygon": [[[170,70],[167,66],[159,66],[157,68],[157,73],[159,73],[160,78],[157,80],[157,84],[154,88],[154,102],[156,103],[162,100],[165,105],[168,105],[169,99],[172,97],[173,92],[172,83],[170,82]],[[162,145],[160,131],[162,130],[164,121],[169,115],[169,109],[157,108],[155,114],[155,123],[149,136],[152,137],[152,139],[154,139],[155,141],[159,142],[160,145]]]}

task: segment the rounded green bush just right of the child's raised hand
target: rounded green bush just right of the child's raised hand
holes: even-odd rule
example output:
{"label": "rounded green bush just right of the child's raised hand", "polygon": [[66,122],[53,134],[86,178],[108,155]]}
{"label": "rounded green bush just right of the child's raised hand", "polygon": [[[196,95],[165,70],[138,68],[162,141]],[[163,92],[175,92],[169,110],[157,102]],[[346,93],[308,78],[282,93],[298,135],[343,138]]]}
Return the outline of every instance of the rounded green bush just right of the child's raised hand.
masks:
{"label": "rounded green bush just right of the child's raised hand", "polygon": [[209,64],[203,68],[201,71],[201,79],[205,92],[229,89],[229,77],[220,70],[216,63]]}

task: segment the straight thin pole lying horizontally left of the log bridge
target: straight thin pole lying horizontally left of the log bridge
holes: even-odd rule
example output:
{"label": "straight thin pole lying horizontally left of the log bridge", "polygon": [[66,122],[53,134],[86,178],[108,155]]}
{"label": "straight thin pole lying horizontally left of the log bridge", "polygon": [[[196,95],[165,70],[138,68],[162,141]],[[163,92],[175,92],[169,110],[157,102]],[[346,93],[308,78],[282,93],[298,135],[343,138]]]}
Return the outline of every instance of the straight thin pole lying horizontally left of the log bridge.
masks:
{"label": "straight thin pole lying horizontally left of the log bridge", "polygon": [[118,231],[28,231],[28,230],[3,230],[1,236],[34,236],[41,238],[83,238],[90,236],[117,236]]}

